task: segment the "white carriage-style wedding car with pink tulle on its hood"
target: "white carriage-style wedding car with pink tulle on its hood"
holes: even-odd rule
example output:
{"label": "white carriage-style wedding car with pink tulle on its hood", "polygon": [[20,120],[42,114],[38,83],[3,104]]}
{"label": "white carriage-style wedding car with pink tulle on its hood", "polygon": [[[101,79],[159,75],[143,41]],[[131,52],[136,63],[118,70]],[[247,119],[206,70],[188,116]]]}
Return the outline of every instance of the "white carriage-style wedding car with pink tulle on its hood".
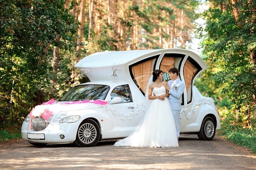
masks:
{"label": "white carriage-style wedding car with pink tulle on its hood", "polygon": [[98,141],[127,137],[143,119],[145,90],[152,72],[169,68],[180,71],[185,83],[180,112],[181,133],[212,140],[221,128],[212,98],[193,86],[207,68],[197,54],[184,49],[96,52],[75,67],[90,82],[70,89],[58,101],[35,106],[22,125],[22,138],[32,145],[74,143],[94,146]]}

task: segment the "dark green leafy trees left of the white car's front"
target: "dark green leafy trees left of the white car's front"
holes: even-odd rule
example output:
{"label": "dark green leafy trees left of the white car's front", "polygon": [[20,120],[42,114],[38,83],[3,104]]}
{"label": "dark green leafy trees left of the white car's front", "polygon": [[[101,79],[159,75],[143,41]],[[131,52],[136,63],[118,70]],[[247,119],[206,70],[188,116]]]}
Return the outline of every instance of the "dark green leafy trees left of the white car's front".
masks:
{"label": "dark green leafy trees left of the white car's front", "polygon": [[50,83],[56,76],[53,48],[71,49],[77,26],[63,0],[0,1],[0,11],[0,127],[5,127],[57,96]]}

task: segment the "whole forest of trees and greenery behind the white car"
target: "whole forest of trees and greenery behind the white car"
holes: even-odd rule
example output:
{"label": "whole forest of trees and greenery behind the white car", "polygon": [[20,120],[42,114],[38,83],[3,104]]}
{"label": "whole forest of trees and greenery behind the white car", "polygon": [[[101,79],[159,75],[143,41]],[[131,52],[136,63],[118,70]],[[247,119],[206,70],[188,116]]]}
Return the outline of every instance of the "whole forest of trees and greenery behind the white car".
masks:
{"label": "whole forest of trees and greenery behind the white car", "polygon": [[74,68],[81,58],[200,38],[209,68],[194,84],[215,100],[218,135],[255,153],[255,20],[254,0],[0,0],[0,141],[21,137],[35,105],[89,81]]}

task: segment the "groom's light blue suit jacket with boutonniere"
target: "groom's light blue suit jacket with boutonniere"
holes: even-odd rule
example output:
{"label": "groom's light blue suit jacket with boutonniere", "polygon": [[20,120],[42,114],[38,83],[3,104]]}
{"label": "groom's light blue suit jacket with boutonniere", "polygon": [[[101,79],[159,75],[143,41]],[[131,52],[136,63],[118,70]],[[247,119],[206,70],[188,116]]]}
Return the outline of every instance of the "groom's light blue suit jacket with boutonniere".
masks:
{"label": "groom's light blue suit jacket with boutonniere", "polygon": [[[185,89],[185,84],[181,80],[177,79],[172,87],[171,86],[172,82],[173,82],[173,80],[168,81],[168,85],[171,88],[169,91],[169,94],[170,94],[169,103],[171,105],[172,110],[180,111],[181,110],[181,97],[182,97],[182,94]],[[175,89],[175,87],[176,87],[176,89]]]}

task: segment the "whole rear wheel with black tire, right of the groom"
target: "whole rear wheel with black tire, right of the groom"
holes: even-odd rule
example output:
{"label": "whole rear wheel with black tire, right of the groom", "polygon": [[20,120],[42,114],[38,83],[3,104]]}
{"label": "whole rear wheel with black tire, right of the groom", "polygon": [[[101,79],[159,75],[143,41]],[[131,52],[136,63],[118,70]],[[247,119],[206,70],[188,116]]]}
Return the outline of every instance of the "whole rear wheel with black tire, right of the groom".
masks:
{"label": "whole rear wheel with black tire, right of the groom", "polygon": [[202,121],[200,131],[197,136],[200,140],[212,140],[215,136],[216,124],[213,118],[205,117]]}

